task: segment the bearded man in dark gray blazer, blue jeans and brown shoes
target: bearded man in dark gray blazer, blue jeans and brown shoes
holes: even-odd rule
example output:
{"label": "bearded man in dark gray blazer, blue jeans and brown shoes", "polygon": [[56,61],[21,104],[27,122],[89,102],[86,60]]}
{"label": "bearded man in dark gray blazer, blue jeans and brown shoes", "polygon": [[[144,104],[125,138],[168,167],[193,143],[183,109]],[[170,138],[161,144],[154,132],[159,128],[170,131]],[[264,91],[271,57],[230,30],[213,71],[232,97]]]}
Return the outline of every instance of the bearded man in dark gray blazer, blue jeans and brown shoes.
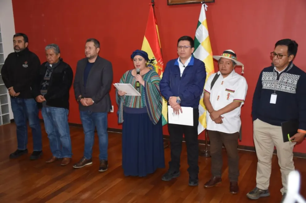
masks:
{"label": "bearded man in dark gray blazer, blue jeans and brown shoes", "polygon": [[86,41],[85,55],[77,63],[77,72],[73,82],[74,94],[79,103],[80,117],[85,134],[84,156],[73,165],[81,168],[92,164],[94,130],[97,128],[99,138],[99,171],[108,169],[107,161],[107,114],[112,108],[110,88],[113,81],[111,62],[98,56],[100,42],[90,38]]}

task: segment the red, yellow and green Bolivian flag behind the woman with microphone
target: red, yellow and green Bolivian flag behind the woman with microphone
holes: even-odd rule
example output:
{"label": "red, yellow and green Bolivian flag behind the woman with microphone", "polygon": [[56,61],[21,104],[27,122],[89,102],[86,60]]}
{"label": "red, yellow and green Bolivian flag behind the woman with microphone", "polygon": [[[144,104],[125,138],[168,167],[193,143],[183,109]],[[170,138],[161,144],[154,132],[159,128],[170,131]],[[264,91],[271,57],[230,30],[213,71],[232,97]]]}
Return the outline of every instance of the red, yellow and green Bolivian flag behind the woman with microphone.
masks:
{"label": "red, yellow and green Bolivian flag behind the woman with microphone", "polygon": [[[141,50],[147,52],[149,55],[150,62],[148,63],[147,67],[151,68],[152,70],[155,70],[159,74],[160,78],[162,78],[164,70],[163,57],[159,41],[157,21],[152,4],[150,4],[149,18]],[[167,101],[164,98],[163,98],[162,119],[163,119],[163,125],[166,125]]]}

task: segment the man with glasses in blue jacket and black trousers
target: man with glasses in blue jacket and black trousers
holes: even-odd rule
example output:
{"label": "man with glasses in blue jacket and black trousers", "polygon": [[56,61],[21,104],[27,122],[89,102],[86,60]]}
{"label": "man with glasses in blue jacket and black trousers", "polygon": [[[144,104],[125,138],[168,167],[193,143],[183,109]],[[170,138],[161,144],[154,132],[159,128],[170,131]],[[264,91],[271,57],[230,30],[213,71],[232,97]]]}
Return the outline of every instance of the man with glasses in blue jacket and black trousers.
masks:
{"label": "man with glasses in blue jacket and black trousers", "polygon": [[170,181],[180,175],[180,154],[183,134],[187,145],[189,185],[198,185],[198,124],[199,103],[204,89],[206,70],[204,62],[192,56],[194,41],[189,36],[179,38],[177,54],[179,58],[167,63],[159,88],[176,114],[182,113],[181,106],[193,108],[193,126],[168,124],[171,145],[169,169],[162,177]]}

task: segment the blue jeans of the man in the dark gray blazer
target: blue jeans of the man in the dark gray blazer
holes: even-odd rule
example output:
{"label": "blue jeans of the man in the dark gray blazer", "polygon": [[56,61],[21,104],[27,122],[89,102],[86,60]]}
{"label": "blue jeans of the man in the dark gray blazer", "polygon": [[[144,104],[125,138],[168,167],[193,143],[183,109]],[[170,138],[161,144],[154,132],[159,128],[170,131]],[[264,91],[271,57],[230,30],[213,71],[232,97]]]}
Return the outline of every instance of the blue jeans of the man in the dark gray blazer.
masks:
{"label": "blue jeans of the man in the dark gray blazer", "polygon": [[80,111],[81,121],[85,134],[84,157],[90,159],[93,153],[95,127],[99,138],[99,159],[107,161],[108,133],[107,113],[95,113],[92,111]]}

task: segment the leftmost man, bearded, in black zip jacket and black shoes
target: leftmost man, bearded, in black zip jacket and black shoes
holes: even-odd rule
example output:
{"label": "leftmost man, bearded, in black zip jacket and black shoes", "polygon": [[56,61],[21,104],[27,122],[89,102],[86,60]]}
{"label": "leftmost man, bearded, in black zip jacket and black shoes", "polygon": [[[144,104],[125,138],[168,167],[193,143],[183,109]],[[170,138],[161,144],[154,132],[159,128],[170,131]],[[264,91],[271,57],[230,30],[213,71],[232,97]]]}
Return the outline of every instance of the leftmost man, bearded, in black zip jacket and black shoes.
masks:
{"label": "leftmost man, bearded, in black zip jacket and black shoes", "polygon": [[10,53],[2,67],[3,82],[10,93],[14,121],[17,125],[17,150],[10,158],[17,158],[28,153],[27,119],[32,129],[33,153],[30,159],[38,159],[42,155],[41,127],[38,108],[31,86],[39,70],[40,61],[36,54],[27,48],[29,42],[26,34],[17,33],[13,37],[14,53]]}

